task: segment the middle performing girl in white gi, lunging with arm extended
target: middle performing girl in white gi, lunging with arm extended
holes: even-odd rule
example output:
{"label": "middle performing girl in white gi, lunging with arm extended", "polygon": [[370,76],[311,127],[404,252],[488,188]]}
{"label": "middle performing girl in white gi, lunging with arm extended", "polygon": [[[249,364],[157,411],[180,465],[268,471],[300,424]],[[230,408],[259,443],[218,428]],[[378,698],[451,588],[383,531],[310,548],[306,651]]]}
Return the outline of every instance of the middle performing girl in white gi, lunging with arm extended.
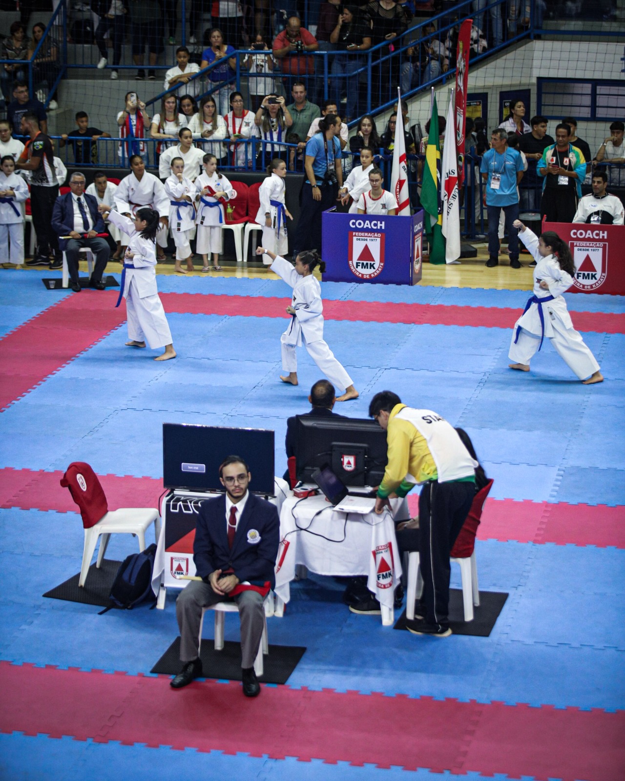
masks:
{"label": "middle performing girl in white gi, lunging with arm extended", "polygon": [[348,401],[358,398],[352,378],[343,366],[334,358],[333,352],[323,340],[323,302],[321,287],[313,276],[313,270],[319,266],[320,272],[326,269],[326,264],[320,262],[316,252],[301,252],[295,259],[295,269],[291,263],[272,251],[258,247],[256,255],[269,255],[272,259],[271,270],[293,288],[291,305],[287,313],[291,315],[291,323],[280,337],[282,345],[282,369],[287,376],[280,375],[283,383],[298,384],[298,359],[295,348],[304,344],[313,361],[321,369],[327,379],[338,388],[345,388],[345,393],[337,401]]}

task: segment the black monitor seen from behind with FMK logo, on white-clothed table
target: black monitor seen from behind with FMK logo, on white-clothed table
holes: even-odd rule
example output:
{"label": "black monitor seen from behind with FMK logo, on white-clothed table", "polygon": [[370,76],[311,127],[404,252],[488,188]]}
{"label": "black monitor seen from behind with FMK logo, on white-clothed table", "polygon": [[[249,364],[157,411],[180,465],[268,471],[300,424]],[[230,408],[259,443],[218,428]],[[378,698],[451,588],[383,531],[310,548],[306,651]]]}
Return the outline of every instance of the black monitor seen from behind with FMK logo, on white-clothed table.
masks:
{"label": "black monitor seen from behind with FMK logo, on white-clothed table", "polygon": [[329,466],[345,485],[380,485],[386,451],[386,432],[374,420],[297,415],[295,466],[302,483]]}

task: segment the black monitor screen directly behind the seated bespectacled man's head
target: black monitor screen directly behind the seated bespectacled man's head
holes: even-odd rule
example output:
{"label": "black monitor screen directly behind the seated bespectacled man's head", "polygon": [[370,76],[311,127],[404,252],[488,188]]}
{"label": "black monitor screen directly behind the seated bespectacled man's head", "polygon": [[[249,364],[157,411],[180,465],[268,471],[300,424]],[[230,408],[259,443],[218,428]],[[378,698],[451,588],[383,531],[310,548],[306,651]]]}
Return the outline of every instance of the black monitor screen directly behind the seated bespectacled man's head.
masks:
{"label": "black monitor screen directly behind the seated bespectacled man's head", "polygon": [[220,483],[220,464],[229,455],[245,458],[253,493],[273,495],[273,431],[162,424],[162,482],[166,488],[225,490]]}

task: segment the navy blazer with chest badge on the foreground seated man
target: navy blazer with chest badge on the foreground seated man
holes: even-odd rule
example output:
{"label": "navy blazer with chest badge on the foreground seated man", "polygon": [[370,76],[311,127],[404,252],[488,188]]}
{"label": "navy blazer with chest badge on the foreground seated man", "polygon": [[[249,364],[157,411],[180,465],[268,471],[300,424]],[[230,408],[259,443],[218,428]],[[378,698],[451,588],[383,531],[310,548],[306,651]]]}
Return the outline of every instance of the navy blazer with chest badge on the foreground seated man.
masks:
{"label": "navy blazer with chest badge on the foreground seated man", "polygon": [[239,581],[276,583],[274,568],[280,542],[277,508],[255,494],[248,495],[239,519],[232,550],[228,547],[226,496],[200,505],[193,560],[198,576],[205,578],[216,569],[233,569]]}

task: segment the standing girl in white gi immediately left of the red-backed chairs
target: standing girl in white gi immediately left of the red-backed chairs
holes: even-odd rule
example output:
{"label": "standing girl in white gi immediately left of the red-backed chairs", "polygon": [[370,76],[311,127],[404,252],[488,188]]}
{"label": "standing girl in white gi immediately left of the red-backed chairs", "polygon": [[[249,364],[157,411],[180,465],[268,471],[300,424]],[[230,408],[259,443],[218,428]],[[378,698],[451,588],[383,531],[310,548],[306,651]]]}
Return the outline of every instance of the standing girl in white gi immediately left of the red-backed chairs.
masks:
{"label": "standing girl in white gi immediately left of the red-backed chairs", "polygon": [[215,155],[204,155],[201,173],[195,180],[198,194],[198,213],[195,224],[198,226],[198,243],[196,250],[202,255],[204,267],[202,271],[210,271],[209,252],[213,253],[213,269],[221,271],[220,254],[223,252],[223,231],[221,226],[226,221],[223,202],[235,197],[232,185],[223,174],[217,170]]}

